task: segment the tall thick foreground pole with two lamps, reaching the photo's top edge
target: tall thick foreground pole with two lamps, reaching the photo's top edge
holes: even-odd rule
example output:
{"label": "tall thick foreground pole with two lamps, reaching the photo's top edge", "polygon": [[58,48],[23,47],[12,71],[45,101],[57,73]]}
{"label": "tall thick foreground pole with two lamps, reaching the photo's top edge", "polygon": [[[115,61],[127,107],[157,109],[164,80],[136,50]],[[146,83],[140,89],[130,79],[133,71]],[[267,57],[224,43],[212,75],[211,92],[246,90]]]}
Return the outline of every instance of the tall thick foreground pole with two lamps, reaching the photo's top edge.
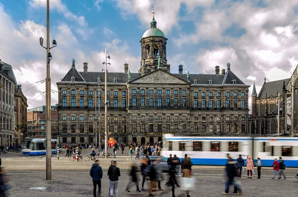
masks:
{"label": "tall thick foreground pole with two lamps, reaching the photo's top edge", "polygon": [[43,38],[39,38],[40,46],[47,49],[47,79],[46,79],[46,180],[52,179],[52,160],[51,160],[51,78],[50,61],[52,54],[50,49],[57,47],[56,40],[53,40],[53,47],[50,47],[50,0],[47,0],[47,47],[43,46]]}

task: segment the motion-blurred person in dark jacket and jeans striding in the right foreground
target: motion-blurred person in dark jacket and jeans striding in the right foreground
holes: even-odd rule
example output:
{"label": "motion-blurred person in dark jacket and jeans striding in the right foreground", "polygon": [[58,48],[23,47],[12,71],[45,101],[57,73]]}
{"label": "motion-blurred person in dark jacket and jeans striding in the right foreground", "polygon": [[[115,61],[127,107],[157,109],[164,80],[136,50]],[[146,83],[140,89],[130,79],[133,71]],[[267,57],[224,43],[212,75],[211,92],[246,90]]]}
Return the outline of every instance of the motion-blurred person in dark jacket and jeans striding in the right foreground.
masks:
{"label": "motion-blurred person in dark jacket and jeans striding in the right foreground", "polygon": [[[225,183],[225,191],[223,192],[223,195],[228,195],[229,186],[233,184],[234,177],[237,176],[235,162],[231,157],[228,158],[228,161],[226,163],[225,173],[226,173],[226,183]],[[242,195],[241,188],[237,187],[237,185],[234,185],[234,186],[239,192],[239,195]]]}

